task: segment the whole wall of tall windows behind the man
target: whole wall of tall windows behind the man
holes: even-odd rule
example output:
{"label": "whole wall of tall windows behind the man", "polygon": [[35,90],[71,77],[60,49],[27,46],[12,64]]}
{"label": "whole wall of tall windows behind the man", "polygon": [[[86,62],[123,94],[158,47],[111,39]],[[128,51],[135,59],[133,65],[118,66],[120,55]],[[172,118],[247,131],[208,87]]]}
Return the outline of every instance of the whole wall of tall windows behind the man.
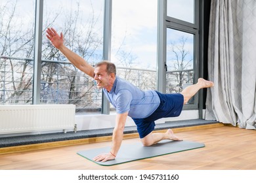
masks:
{"label": "whole wall of tall windows behind the man", "polygon": [[[93,78],[78,71],[51,45],[45,36],[47,27],[62,32],[65,45],[91,65],[106,59],[107,50],[117,75],[141,90],[181,92],[198,78],[198,2],[1,1],[0,104],[32,104],[36,94],[41,104],[75,104],[77,112],[108,113]],[[104,17],[108,12],[111,16]],[[36,13],[41,19],[35,18]],[[107,25],[111,25],[109,34],[104,29]],[[106,41],[111,44],[106,46]],[[40,50],[41,58],[33,58],[34,50],[36,57]],[[39,67],[33,68],[34,60]],[[188,104],[195,107],[196,103],[195,98]]]}

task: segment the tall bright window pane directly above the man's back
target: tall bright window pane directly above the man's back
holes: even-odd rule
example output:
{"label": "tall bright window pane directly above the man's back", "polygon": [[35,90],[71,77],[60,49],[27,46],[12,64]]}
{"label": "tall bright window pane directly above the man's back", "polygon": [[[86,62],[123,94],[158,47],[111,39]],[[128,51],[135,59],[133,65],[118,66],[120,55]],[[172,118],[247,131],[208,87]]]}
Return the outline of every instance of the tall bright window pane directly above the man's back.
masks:
{"label": "tall bright window pane directly above the man's back", "polygon": [[141,90],[157,86],[157,25],[157,0],[112,1],[111,60],[117,75]]}

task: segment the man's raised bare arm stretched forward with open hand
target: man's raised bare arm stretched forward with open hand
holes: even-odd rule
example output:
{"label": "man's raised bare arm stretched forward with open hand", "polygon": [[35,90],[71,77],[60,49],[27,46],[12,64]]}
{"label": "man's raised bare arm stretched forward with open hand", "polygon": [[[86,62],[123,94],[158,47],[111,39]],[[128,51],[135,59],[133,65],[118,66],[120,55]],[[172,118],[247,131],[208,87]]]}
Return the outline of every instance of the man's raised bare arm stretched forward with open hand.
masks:
{"label": "man's raised bare arm stretched forward with open hand", "polygon": [[87,61],[85,61],[85,59],[81,58],[80,56],[78,56],[77,54],[72,52],[72,50],[70,50],[66,46],[64,46],[64,37],[63,37],[62,33],[60,33],[60,35],[58,35],[58,33],[55,31],[55,29],[48,28],[47,29],[47,38],[52,42],[52,44],[55,48],[60,50],[60,52],[62,52],[62,54],[64,54],[64,56],[66,56],[66,58],[73,65],[75,65],[75,67],[77,67],[77,69],[81,70],[83,73],[94,78],[95,68],[93,66],[89,65],[89,63],[87,63]]}

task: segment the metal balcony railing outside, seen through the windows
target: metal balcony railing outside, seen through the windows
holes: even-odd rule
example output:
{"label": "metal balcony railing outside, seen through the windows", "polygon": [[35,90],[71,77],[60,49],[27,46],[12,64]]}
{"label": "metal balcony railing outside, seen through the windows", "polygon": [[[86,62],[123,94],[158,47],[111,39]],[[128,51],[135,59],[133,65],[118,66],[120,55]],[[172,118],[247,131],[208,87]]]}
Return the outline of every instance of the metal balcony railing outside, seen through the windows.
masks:
{"label": "metal balcony railing outside, seen through the windows", "polygon": [[[182,81],[177,80],[177,73],[181,72]],[[141,90],[156,90],[155,70],[117,67],[117,75]],[[192,69],[167,72],[167,91],[179,92],[181,83],[190,83],[192,78]],[[32,90],[33,59],[1,56],[0,105],[32,104]],[[95,112],[101,110],[102,92],[96,88],[93,78],[69,61],[43,59],[40,101],[45,104],[75,104],[77,111]]]}

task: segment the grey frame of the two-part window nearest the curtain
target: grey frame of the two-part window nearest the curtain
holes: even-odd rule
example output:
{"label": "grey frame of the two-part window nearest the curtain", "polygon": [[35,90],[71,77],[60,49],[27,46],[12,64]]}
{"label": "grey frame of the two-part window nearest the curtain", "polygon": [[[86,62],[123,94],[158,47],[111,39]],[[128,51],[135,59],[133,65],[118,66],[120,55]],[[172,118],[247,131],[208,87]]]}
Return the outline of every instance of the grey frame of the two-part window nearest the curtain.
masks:
{"label": "grey frame of the two-part window nearest the curtain", "polygon": [[[167,16],[167,0],[158,0],[158,91],[166,91],[167,29],[175,29],[194,35],[194,82],[200,77],[200,0],[194,0],[194,24]],[[184,105],[184,110],[202,110],[201,92],[194,96],[194,104]]]}

